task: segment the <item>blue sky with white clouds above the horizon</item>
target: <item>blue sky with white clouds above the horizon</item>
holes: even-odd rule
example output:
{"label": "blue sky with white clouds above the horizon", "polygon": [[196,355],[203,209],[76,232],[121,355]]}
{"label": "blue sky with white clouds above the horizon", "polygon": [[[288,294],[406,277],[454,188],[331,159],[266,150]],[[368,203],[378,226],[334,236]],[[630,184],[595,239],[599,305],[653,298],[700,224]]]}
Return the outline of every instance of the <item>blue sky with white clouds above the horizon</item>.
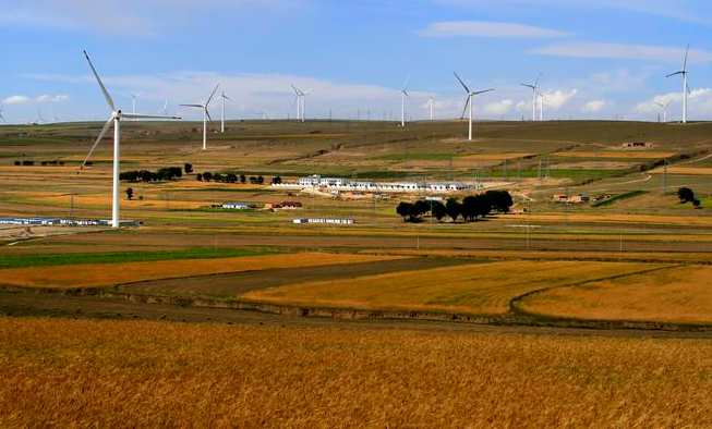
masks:
{"label": "blue sky with white clouds above the horizon", "polygon": [[[544,119],[668,120],[689,53],[689,111],[712,119],[709,0],[0,0],[8,123],[106,120],[87,50],[117,107],[201,119],[213,88],[228,119],[521,120],[541,73]],[[219,101],[210,105],[214,119]]]}

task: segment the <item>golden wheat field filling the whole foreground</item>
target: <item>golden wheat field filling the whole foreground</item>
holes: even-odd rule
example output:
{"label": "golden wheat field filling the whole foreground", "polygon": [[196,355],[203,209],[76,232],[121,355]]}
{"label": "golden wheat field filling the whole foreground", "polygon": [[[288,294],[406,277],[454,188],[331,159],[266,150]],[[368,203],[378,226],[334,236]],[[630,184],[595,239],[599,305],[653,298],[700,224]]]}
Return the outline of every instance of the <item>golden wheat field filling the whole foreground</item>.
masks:
{"label": "golden wheat field filling the whole foreground", "polygon": [[710,356],[702,340],[0,318],[0,426],[709,427]]}

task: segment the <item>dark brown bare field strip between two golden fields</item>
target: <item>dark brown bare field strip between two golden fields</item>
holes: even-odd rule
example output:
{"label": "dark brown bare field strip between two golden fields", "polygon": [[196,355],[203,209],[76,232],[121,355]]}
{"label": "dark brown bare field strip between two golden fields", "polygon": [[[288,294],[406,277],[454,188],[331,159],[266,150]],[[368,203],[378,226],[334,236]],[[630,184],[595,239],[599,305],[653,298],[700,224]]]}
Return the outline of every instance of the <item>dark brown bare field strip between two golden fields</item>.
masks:
{"label": "dark brown bare field strip between two golden fields", "polygon": [[234,296],[265,287],[309,281],[352,279],[362,275],[402,272],[427,268],[472,263],[464,258],[406,258],[349,262],[328,266],[275,268],[260,271],[232,272],[208,277],[155,280],[121,286],[122,291],[150,295]]}

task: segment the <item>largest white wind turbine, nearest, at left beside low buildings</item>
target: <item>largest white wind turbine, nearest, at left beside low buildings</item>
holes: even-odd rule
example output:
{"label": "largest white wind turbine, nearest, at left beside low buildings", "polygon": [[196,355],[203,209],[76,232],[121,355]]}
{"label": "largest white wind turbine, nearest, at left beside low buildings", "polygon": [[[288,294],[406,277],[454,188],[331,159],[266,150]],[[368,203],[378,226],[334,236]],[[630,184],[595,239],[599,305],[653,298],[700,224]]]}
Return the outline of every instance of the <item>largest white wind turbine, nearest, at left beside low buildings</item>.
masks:
{"label": "largest white wind turbine, nearest, at left beside low buildings", "polygon": [[[86,155],[84,162],[82,162],[82,166],[80,167],[80,171],[84,168],[84,166],[86,166],[86,161],[88,161],[89,157],[94,152],[94,149],[96,149],[96,147],[99,145],[104,136],[109,131],[109,127],[111,127],[111,124],[113,124],[113,186],[112,186],[112,205],[111,205],[111,226],[119,228],[119,163],[120,163],[120,149],[121,149],[121,120],[123,118],[125,119],[143,119],[143,118],[180,119],[180,118],[152,117],[146,114],[123,113],[121,110],[117,110],[117,108],[113,106],[113,100],[111,99],[111,96],[109,95],[106,87],[104,86],[101,78],[99,78],[99,74],[96,72],[96,69],[94,69],[94,64],[92,64],[92,60],[89,60],[89,56],[86,53],[86,51],[84,51],[84,57],[86,58],[86,62],[89,63],[89,68],[92,68],[92,72],[94,73],[94,77],[96,77],[96,82],[99,84],[99,88],[101,88],[101,93],[104,93],[104,98],[106,98],[107,105],[111,110],[111,117],[101,128],[101,132],[99,133],[99,137],[96,139],[94,146],[92,146],[92,149],[89,149],[89,152]],[[79,174],[80,171],[77,171],[76,173]]]}

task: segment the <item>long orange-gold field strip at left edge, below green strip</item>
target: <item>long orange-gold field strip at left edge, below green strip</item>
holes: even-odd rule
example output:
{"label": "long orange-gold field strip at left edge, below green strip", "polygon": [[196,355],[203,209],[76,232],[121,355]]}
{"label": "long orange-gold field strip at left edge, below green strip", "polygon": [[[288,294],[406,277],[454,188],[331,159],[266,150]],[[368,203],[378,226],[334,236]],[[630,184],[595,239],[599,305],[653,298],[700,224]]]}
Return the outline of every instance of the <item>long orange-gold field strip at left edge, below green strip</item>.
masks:
{"label": "long orange-gold field strip at left edge, below green strip", "polygon": [[0,284],[45,287],[92,287],[144,280],[266,270],[271,268],[367,262],[396,258],[398,257],[304,253],[222,259],[10,268],[0,270]]}

